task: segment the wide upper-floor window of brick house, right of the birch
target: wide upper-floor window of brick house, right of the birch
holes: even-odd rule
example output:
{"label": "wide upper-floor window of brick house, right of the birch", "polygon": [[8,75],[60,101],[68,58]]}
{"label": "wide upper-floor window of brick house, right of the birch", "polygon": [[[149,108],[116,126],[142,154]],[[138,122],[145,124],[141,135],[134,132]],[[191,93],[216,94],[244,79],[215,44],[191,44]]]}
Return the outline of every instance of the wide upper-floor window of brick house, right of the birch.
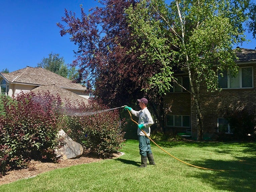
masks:
{"label": "wide upper-floor window of brick house, right of the birch", "polygon": [[253,68],[240,67],[238,75],[231,77],[227,71],[218,74],[218,87],[222,89],[253,88]]}

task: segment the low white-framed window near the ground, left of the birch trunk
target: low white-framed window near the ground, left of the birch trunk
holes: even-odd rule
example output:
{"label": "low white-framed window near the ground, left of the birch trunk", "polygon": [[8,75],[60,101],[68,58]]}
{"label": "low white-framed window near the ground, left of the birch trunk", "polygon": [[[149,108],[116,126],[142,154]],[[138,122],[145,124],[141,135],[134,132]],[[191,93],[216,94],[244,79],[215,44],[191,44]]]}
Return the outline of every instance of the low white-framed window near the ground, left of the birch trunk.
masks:
{"label": "low white-framed window near the ground, left of the birch trunk", "polygon": [[190,127],[189,115],[167,115],[166,125],[175,127]]}

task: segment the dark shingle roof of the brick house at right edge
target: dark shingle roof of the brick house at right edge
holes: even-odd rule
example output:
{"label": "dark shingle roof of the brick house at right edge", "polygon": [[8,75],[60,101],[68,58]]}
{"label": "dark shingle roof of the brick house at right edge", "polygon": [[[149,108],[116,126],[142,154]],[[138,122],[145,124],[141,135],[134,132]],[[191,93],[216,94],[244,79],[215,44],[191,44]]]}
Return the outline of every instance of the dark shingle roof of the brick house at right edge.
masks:
{"label": "dark shingle roof of the brick house at right edge", "polygon": [[256,50],[238,48],[236,49],[236,56],[239,60],[235,60],[235,62],[256,61]]}

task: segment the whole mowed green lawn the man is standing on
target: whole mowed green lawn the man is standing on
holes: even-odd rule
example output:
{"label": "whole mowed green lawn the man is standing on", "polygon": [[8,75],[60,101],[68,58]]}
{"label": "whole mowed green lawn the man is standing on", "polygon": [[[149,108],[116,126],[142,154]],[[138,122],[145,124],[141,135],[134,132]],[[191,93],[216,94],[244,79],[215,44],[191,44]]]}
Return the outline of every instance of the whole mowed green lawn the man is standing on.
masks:
{"label": "whole mowed green lawn the man is standing on", "polygon": [[157,165],[138,169],[138,141],[127,140],[121,150],[125,155],[117,159],[56,169],[34,178],[1,185],[0,192],[256,191],[256,143],[157,143],[187,163],[211,169],[240,171],[194,168],[168,156],[154,144],[152,151]]}

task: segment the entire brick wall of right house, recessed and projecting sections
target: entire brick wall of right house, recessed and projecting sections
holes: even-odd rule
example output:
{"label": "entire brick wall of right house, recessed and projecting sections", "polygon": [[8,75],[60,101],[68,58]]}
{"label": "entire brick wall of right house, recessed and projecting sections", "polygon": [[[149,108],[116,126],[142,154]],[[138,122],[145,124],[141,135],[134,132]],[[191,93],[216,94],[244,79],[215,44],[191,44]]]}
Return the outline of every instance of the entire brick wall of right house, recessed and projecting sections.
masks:
{"label": "entire brick wall of right house, recessed and projecting sections", "polygon": [[[203,115],[203,137],[215,138],[217,133],[218,117],[223,117],[225,110],[234,109],[236,103],[256,104],[256,64],[243,64],[239,67],[253,66],[253,88],[223,89],[222,91],[207,92],[206,86],[200,87],[201,111]],[[192,138],[197,137],[196,106],[189,93],[167,93],[164,102],[171,107],[168,114],[190,115]],[[167,127],[173,133],[186,132],[188,128]]]}

